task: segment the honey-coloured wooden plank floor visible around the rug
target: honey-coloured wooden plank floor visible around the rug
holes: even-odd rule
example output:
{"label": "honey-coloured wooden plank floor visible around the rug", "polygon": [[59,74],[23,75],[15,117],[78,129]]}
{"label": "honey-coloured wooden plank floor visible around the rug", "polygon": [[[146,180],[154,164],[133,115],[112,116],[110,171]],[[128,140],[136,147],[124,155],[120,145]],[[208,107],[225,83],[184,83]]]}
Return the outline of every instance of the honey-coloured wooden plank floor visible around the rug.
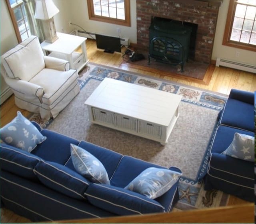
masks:
{"label": "honey-coloured wooden plank floor visible around the rug", "polygon": [[[195,86],[198,88],[211,90],[215,92],[220,92],[222,94],[229,94],[232,88],[237,88],[240,90],[246,90],[254,92],[256,91],[256,74],[248,73],[244,71],[239,71],[235,69],[225,68],[225,67],[215,67],[210,66],[208,74],[206,77],[209,78],[208,81],[195,81],[194,79],[184,78],[180,75],[166,75],[156,70],[150,70],[144,67],[133,67],[127,63],[122,63],[121,53],[104,53],[102,50],[97,50],[96,43],[94,40],[88,39],[86,41],[87,55],[90,62],[98,63],[101,65],[107,65],[110,67],[116,67],[119,69],[124,69],[127,71],[137,72],[143,75],[149,75],[151,77],[157,77],[161,79],[166,79],[169,81],[174,81],[180,84],[186,84],[190,86]],[[122,49],[125,51],[125,49]],[[209,75],[210,74],[210,75]],[[208,83],[208,84],[204,84]],[[17,111],[20,110],[24,116],[28,116],[30,112],[26,110],[19,109],[14,104],[14,97],[11,96],[6,102],[1,105],[1,127],[10,122],[15,116]],[[228,200],[228,205],[240,205],[248,204],[248,202],[230,196]],[[23,218],[14,214],[13,212],[1,208],[1,223],[4,222],[30,222],[28,219]],[[160,222],[160,221],[159,221]]]}

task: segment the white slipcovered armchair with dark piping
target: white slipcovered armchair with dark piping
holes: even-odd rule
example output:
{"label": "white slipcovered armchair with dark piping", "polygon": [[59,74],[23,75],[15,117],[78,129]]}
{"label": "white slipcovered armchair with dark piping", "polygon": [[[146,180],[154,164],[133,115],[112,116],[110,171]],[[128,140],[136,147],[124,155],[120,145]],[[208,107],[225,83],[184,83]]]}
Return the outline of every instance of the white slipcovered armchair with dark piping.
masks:
{"label": "white slipcovered armchair with dark piping", "polygon": [[44,56],[36,36],[4,53],[1,61],[15,104],[42,118],[55,118],[80,91],[77,71],[66,60]]}

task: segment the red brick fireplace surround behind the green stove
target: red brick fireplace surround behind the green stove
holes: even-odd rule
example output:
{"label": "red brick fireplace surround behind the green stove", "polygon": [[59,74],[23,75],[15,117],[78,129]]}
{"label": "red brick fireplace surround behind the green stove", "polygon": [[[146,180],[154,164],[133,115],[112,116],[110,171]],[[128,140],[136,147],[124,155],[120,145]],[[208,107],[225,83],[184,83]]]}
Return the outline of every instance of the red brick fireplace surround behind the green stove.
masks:
{"label": "red brick fireplace surround behind the green stove", "polygon": [[195,61],[209,64],[222,0],[136,0],[137,46],[148,49],[154,16],[198,24]]}

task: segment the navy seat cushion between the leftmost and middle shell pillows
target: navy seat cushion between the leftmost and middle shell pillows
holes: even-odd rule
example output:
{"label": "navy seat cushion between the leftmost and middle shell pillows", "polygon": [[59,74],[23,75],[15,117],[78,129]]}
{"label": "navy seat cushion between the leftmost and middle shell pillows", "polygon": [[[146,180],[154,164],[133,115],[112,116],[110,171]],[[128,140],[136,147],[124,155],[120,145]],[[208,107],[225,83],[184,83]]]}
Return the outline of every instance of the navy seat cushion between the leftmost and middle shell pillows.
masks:
{"label": "navy seat cushion between the leftmost and middle shell pillows", "polygon": [[37,145],[32,153],[44,160],[65,165],[70,158],[70,143],[78,145],[79,141],[47,129],[41,133],[47,140]]}

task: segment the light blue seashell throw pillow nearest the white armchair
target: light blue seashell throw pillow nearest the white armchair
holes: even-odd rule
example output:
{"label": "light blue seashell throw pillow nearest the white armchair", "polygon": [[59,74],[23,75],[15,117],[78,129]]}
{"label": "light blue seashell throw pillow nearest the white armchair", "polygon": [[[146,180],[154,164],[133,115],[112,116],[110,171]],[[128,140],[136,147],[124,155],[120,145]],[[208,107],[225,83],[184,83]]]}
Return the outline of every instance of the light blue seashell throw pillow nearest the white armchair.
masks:
{"label": "light blue seashell throw pillow nearest the white armchair", "polygon": [[8,145],[31,152],[37,144],[46,140],[39,130],[20,111],[16,118],[0,130],[1,140]]}

